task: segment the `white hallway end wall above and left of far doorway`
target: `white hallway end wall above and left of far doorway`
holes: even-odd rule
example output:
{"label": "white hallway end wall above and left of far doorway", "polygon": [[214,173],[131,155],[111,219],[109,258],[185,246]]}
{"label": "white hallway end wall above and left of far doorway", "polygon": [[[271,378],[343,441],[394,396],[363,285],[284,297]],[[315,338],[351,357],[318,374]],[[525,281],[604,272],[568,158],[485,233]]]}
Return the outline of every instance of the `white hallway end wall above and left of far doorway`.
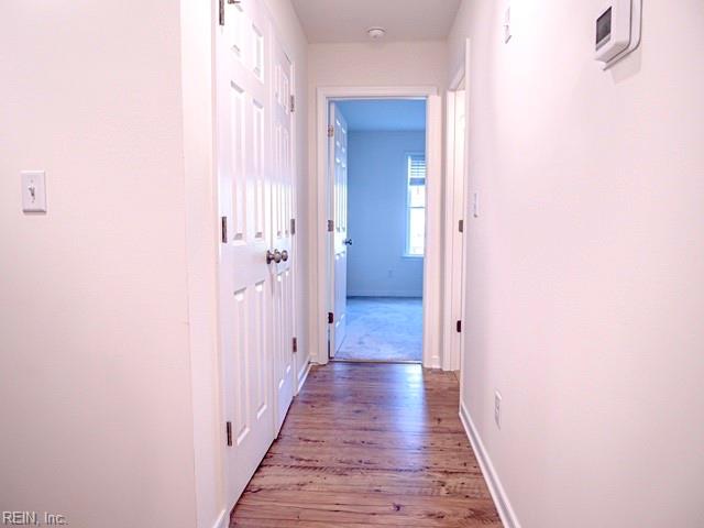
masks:
{"label": "white hallway end wall above and left of far doorway", "polygon": [[[435,86],[442,94],[447,87],[447,54],[446,42],[389,42],[389,43],[351,43],[351,44],[310,44],[308,46],[308,136],[311,139],[308,147],[308,170],[310,182],[317,180],[317,109],[316,97],[320,87],[397,87],[397,86]],[[429,105],[432,109],[433,106]],[[430,129],[429,129],[430,130]],[[431,138],[435,141],[435,138]],[[432,160],[430,163],[435,163]],[[430,167],[433,168],[433,167]],[[440,193],[441,190],[438,189]],[[308,221],[314,227],[311,233],[317,233],[318,208],[326,207],[326,197],[318,196],[311,185],[309,204],[315,207],[308,209]],[[319,270],[317,258],[321,251],[317,240],[310,241],[311,257],[316,263],[310,266],[310,298],[309,336],[311,350],[319,351],[323,333],[320,320],[323,310],[316,299],[319,277],[323,270]],[[426,332],[426,337],[429,332]],[[312,356],[314,361],[324,362],[326,358]],[[433,360],[435,361],[435,360]],[[439,361],[439,360],[438,360]]]}

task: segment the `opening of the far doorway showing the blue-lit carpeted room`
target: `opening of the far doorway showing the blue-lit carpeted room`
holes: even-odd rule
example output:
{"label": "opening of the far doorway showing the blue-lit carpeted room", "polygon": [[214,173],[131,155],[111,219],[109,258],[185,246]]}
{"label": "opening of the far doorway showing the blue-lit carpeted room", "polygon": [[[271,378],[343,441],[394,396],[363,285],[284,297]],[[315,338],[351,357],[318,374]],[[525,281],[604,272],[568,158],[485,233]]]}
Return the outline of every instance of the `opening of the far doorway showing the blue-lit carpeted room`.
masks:
{"label": "opening of the far doorway showing the blue-lit carpeted room", "polygon": [[330,359],[422,362],[426,121],[425,98],[330,100]]}

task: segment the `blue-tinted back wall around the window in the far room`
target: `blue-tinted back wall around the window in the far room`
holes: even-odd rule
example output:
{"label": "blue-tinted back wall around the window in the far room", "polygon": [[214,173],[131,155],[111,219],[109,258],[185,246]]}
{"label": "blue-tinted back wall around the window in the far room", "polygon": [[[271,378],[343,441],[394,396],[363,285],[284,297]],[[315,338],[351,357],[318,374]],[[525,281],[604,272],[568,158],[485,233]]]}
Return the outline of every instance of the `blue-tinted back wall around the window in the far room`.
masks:
{"label": "blue-tinted back wall around the window in the far room", "polygon": [[422,296],[422,258],[405,256],[406,156],[425,151],[422,131],[350,132],[348,296]]}

